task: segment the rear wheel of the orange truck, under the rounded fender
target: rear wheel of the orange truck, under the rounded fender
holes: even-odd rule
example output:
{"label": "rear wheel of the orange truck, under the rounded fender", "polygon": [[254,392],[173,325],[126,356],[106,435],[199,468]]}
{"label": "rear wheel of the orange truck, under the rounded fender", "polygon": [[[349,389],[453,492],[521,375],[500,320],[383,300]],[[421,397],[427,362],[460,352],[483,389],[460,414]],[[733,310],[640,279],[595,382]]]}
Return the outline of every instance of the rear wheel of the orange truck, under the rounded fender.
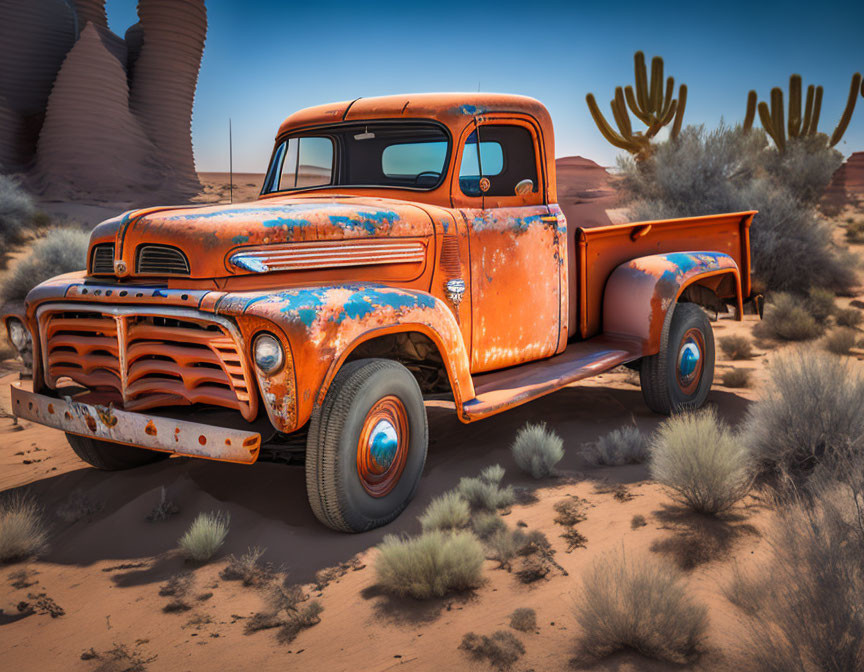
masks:
{"label": "rear wheel of the orange truck, under the rounded fender", "polygon": [[660,352],[642,358],[642,397],[655,413],[701,407],[714,381],[714,332],[699,306],[678,303],[666,318]]}

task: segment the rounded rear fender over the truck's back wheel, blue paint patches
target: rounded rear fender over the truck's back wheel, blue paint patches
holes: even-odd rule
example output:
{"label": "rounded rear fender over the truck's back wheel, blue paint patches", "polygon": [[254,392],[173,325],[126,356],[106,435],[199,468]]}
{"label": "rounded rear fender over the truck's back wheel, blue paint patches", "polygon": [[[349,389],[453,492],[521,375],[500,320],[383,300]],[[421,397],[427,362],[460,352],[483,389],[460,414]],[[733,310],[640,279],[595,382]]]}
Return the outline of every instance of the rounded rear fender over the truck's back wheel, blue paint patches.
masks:
{"label": "rounded rear fender over the truck's back wheel, blue paint patches", "polygon": [[[720,290],[734,278],[734,294]],[[663,323],[681,293],[705,285],[723,298],[737,300],[742,313],[738,264],[721,252],[670,252],[631,259],[609,276],[603,294],[603,331],[641,344],[643,355],[660,351]]]}

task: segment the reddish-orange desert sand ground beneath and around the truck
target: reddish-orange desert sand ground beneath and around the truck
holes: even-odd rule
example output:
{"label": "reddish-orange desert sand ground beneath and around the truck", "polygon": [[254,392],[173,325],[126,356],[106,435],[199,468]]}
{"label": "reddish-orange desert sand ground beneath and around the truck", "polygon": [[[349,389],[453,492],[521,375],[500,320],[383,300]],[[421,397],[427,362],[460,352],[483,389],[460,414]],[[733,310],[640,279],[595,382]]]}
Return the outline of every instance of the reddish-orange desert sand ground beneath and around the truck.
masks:
{"label": "reddish-orange desert sand ground beneath and around the truck", "polygon": [[[575,175],[597,175],[577,161],[568,168]],[[202,198],[221,198],[224,177],[202,175]],[[260,176],[235,175],[234,182],[257,191]],[[570,199],[594,201],[594,196],[579,194],[603,189],[591,182],[566,193]],[[581,206],[576,200],[571,205]],[[595,202],[586,207],[600,206]],[[860,253],[864,248],[853,249]],[[858,296],[839,299],[838,304],[860,306],[862,300],[864,291],[859,290]],[[753,315],[743,322],[721,315],[714,322],[715,335],[750,337],[757,321]],[[754,357],[743,362],[727,361],[718,350],[708,403],[732,425],[742,421],[765,389],[766,364],[782,349],[774,342],[754,345]],[[854,352],[862,366],[864,352]],[[750,388],[720,384],[723,371],[733,366],[754,371]],[[580,576],[604,553],[622,547],[632,557],[658,557],[684,569],[692,595],[710,609],[711,650],[700,669],[740,669],[731,666],[742,626],[722,588],[735,563],[758,565],[766,557],[764,535],[772,513],[751,496],[720,521],[706,521],[674,504],[650,481],[644,465],[595,468],[585,463],[579,456],[582,444],[627,423],[650,432],[662,421],[642,401],[638,377],[626,370],[472,425],[460,424],[446,402],[428,402],[429,458],[416,498],[387,528],[359,535],[332,532],[315,520],[306,503],[302,467],[238,467],[172,458],[126,472],[92,469],[72,453],[61,432],[11,418],[8,384],[17,378],[14,365],[7,363],[0,378],[0,491],[26,487],[44,507],[51,538],[49,550],[38,560],[0,567],[0,652],[5,669],[94,670],[99,661],[82,660],[82,653],[123,644],[152,659],[150,670],[489,670],[459,650],[462,636],[469,631],[488,635],[506,630],[514,609],[531,607],[537,611],[539,628],[536,633],[516,633],[526,654],[514,669],[571,670]],[[558,477],[534,481],[519,472],[509,447],[523,424],[540,420],[563,437],[566,455]],[[514,506],[505,520],[511,527],[523,521],[527,529],[545,532],[566,575],[553,570],[546,579],[523,585],[489,560],[485,583],[469,594],[426,602],[382,594],[376,587],[374,545],[385,534],[418,532],[417,516],[430,500],[453,488],[461,476],[496,463],[507,469],[505,483],[527,488],[536,497],[533,503]],[[164,522],[148,522],[146,516],[158,503],[163,486],[180,512]],[[75,491],[86,494],[93,511],[66,522],[57,512]],[[621,497],[621,492],[626,495]],[[587,520],[578,526],[586,547],[568,553],[560,537],[563,529],[553,522],[553,507],[569,495],[587,500],[589,509]],[[196,568],[174,549],[193,518],[211,510],[230,513],[231,531],[217,557]],[[648,524],[634,530],[630,521],[636,514],[645,516]],[[277,643],[273,631],[244,634],[246,620],[263,606],[261,594],[219,577],[227,556],[250,546],[266,547],[265,560],[282,566],[312,597],[320,596],[321,622],[290,644]],[[351,564],[319,590],[316,572],[344,563]],[[22,570],[27,573],[23,583],[30,585],[15,587],[12,583],[20,576],[13,575]],[[210,596],[193,599],[189,611],[164,613],[169,598],[159,596],[159,587],[182,571],[194,573],[193,595]],[[33,614],[19,612],[19,603],[33,603],[35,598],[29,596],[40,593],[65,613],[54,618],[38,609]],[[682,668],[621,654],[592,669]]]}

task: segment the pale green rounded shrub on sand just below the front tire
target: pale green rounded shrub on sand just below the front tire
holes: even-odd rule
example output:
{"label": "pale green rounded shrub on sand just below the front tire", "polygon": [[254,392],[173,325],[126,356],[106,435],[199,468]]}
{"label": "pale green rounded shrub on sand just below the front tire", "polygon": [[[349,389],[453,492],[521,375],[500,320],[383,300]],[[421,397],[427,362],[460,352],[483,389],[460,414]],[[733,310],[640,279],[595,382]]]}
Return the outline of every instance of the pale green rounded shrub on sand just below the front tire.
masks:
{"label": "pale green rounded shrub on sand just below the front tire", "polygon": [[375,572],[387,592],[423,600],[478,586],[483,559],[483,548],[470,532],[388,535],[378,546]]}

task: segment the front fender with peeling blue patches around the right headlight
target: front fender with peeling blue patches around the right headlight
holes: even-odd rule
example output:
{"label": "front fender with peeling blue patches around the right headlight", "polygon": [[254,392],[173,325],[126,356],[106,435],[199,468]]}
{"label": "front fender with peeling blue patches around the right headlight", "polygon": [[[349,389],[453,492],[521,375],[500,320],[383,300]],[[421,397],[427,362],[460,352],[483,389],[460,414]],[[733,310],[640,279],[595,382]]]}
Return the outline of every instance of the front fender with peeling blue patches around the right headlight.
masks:
{"label": "front fender with peeling blue patches around the right headlight", "polygon": [[461,399],[474,396],[459,325],[450,308],[427,292],[357,283],[229,294],[220,300],[216,312],[234,316],[247,343],[262,330],[281,332],[277,335],[287,341],[286,369],[291,366],[292,370],[283,370],[272,380],[259,376],[270,419],[283,432],[306,423],[357,345],[394,332],[418,331],[435,343],[447,367],[457,408]]}

